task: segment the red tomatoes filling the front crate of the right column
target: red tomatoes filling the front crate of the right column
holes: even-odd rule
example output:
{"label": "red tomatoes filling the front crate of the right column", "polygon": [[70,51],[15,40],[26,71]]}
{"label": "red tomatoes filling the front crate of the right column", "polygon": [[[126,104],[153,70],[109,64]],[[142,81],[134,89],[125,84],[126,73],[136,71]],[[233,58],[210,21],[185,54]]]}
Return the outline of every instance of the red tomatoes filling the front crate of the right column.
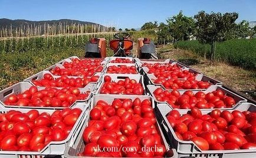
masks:
{"label": "red tomatoes filling the front crate of the right column", "polygon": [[202,114],[192,108],[180,116],[172,110],[166,116],[180,140],[193,141],[201,150],[256,149],[256,113],[212,110]]}

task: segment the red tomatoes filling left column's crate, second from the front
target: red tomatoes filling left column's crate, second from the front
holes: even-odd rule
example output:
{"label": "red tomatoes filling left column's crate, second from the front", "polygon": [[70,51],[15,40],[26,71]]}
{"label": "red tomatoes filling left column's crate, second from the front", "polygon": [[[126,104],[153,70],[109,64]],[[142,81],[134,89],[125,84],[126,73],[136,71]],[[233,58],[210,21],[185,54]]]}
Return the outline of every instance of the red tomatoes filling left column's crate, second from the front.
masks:
{"label": "red tomatoes filling left column's crate, second from the front", "polygon": [[38,90],[31,86],[21,94],[11,94],[4,103],[7,106],[70,107],[76,100],[85,100],[90,91],[80,93],[78,88],[51,88]]}

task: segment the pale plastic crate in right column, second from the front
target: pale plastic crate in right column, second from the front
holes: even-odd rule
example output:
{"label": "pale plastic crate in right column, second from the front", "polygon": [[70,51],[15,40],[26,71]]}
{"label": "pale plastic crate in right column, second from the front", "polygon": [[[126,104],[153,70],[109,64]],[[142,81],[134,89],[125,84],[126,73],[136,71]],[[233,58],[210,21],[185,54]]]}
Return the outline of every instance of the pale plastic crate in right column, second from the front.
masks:
{"label": "pale plastic crate in right column, second from the front", "polygon": [[[147,90],[149,91],[150,96],[152,96],[154,98],[154,100],[156,101],[157,104],[163,104],[163,103],[168,104],[165,101],[158,101],[158,100],[156,100],[155,94],[153,93],[156,90],[156,88],[160,88],[160,86],[147,85]],[[205,94],[207,94],[207,93],[210,93],[210,92],[215,91],[215,90],[222,90],[222,91],[224,91],[224,94],[234,98],[234,100],[235,100],[235,105],[233,107],[231,107],[231,108],[221,108],[223,110],[232,110],[235,107],[237,107],[239,104],[247,102],[247,99],[245,99],[244,97],[238,96],[237,94],[232,93],[232,91],[229,91],[229,90],[227,90],[227,89],[225,89],[225,88],[223,88],[223,87],[221,87],[219,85],[211,85],[206,90],[201,90],[201,91],[204,92]],[[188,90],[182,90],[182,91],[179,90],[180,95],[185,93],[185,91],[188,91]],[[193,91],[194,94],[197,93],[197,92],[198,91]],[[170,106],[170,104],[168,104],[168,105]],[[201,110],[209,110],[209,108],[202,108]]]}

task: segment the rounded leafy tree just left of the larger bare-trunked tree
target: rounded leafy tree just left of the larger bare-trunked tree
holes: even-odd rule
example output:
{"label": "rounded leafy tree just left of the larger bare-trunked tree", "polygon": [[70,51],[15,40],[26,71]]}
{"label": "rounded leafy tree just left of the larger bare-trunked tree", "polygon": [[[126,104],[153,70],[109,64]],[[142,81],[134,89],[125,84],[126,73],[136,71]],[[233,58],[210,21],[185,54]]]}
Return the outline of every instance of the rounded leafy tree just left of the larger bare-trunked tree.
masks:
{"label": "rounded leafy tree just left of the larger bare-trunked tree", "polygon": [[174,41],[189,40],[195,28],[194,19],[184,16],[182,11],[172,18],[168,18],[167,22]]}

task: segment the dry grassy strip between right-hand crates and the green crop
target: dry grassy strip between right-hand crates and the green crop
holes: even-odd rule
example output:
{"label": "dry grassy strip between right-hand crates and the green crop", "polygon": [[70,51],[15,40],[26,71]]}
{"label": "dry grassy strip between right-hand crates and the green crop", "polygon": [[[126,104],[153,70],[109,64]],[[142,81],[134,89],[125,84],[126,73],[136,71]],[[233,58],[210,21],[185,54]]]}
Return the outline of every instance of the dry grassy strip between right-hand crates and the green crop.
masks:
{"label": "dry grassy strip between right-hand crates and the green crop", "polygon": [[[161,59],[171,58],[201,71],[228,87],[240,91],[256,99],[256,71],[234,67],[225,62],[216,62],[214,66],[193,51],[175,49],[173,45],[166,45],[157,50]],[[250,94],[249,94],[250,93]]]}

